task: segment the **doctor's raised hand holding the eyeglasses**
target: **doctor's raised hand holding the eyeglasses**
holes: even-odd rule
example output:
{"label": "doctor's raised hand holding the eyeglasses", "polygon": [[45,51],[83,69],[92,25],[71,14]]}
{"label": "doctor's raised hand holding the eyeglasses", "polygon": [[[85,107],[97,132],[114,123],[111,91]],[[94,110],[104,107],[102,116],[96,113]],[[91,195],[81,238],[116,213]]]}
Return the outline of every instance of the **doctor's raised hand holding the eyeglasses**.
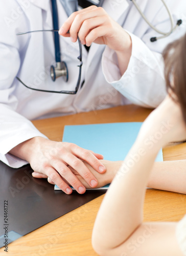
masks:
{"label": "doctor's raised hand holding the eyeglasses", "polygon": [[92,42],[107,45],[117,53],[121,74],[126,71],[132,51],[130,35],[102,7],[90,6],[74,12],[62,25],[59,34],[71,36],[73,42],[79,37],[81,44],[86,46]]}

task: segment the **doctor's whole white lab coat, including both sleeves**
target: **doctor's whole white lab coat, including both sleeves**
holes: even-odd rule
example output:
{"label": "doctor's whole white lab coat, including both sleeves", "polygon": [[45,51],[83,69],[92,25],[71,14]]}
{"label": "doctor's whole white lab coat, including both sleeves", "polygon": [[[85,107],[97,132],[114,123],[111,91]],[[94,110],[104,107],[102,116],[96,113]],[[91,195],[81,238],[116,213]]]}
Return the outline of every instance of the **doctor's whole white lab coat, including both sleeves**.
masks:
{"label": "doctor's whole white lab coat, including both sleeves", "polygon": [[[37,92],[24,87],[18,76],[29,86],[48,90],[74,90],[78,77],[78,48],[69,45],[69,38],[60,37],[63,60],[66,61],[69,81],[55,82],[49,68],[55,62],[52,32],[17,36],[16,33],[52,29],[50,0],[9,0],[0,3],[0,160],[12,167],[26,161],[8,152],[17,144],[43,136],[29,120],[91,111],[133,102],[156,107],[165,97],[165,81],[161,51],[185,32],[185,0],[167,0],[175,23],[183,24],[169,37],[150,42],[152,31],[129,0],[105,0],[103,8],[126,29],[132,38],[132,56],[121,77],[114,51],[92,44],[87,54],[83,47],[83,87],[76,95]],[[138,0],[144,14],[160,30],[167,31],[170,21],[160,1]],[[58,4],[59,26],[67,15]],[[43,136],[44,137],[44,136]]]}

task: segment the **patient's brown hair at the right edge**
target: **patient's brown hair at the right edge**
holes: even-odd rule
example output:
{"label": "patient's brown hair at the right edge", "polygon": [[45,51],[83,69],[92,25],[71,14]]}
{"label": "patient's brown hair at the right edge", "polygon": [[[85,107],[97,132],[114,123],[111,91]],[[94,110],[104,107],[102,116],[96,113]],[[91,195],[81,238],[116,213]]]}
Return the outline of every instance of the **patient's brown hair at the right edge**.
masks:
{"label": "patient's brown hair at the right edge", "polygon": [[176,95],[186,123],[186,34],[169,44],[163,52],[168,92]]}

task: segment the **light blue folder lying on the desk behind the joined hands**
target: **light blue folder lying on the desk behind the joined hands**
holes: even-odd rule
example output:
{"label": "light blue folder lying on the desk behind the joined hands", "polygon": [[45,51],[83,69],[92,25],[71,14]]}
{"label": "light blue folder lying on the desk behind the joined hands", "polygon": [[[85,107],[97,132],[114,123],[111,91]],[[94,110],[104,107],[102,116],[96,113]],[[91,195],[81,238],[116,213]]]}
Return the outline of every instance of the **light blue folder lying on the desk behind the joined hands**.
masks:
{"label": "light blue folder lying on the desk behind the joined hands", "polygon": [[[142,122],[66,125],[63,142],[72,142],[102,154],[106,160],[124,160],[141,126]],[[162,150],[156,161],[163,161]]]}

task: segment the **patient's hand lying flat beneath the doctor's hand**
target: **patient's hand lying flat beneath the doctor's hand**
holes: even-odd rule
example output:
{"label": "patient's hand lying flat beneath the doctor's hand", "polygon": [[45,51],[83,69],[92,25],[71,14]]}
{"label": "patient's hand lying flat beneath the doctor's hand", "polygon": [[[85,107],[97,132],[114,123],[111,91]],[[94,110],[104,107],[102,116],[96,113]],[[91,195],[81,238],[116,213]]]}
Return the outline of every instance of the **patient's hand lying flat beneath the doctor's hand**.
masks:
{"label": "patient's hand lying flat beneath the doctor's hand", "polygon": [[[84,162],[84,164],[88,167],[90,172],[96,177],[98,180],[98,185],[95,188],[105,186],[106,184],[111,183],[113,180],[115,174],[118,172],[118,169],[120,168],[122,161],[108,161],[108,160],[100,160],[104,166],[106,167],[106,172],[103,174],[99,174],[96,172],[94,168],[92,168],[88,163]],[[77,178],[83,183],[83,185],[86,188],[91,188],[86,181],[74,170],[72,167],[71,168],[72,172],[77,176]]]}

